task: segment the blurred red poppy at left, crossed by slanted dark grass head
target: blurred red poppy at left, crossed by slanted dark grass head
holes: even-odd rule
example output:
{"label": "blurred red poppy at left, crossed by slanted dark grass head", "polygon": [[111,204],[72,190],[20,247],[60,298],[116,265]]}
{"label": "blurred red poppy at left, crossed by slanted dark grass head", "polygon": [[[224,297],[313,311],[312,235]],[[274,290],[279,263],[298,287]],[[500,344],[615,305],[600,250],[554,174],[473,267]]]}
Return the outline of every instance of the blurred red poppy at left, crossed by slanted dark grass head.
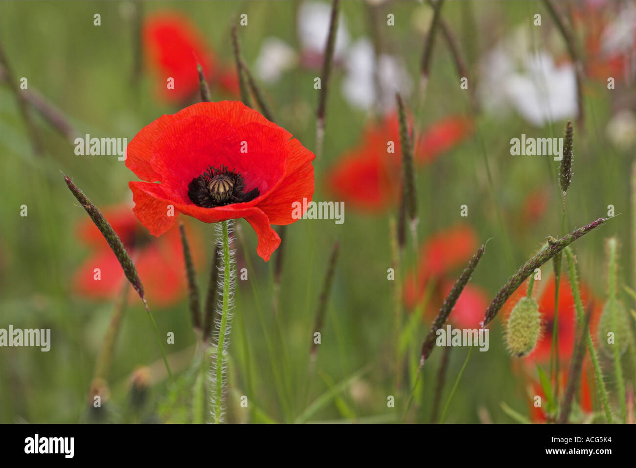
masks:
{"label": "blurred red poppy at left, crossed by slanted dark grass head", "polygon": [[[155,239],[137,221],[127,204],[107,208],[103,213],[134,258],[137,274],[149,301],[170,305],[181,299],[186,284],[178,229],[171,229],[163,238]],[[78,233],[79,239],[89,246],[92,254],[75,273],[75,289],[89,297],[112,299],[119,294],[124,281],[117,257],[90,219],[81,222]],[[196,261],[200,240],[194,232],[188,232],[188,238]],[[96,268],[99,268],[99,280],[95,280]],[[131,295],[136,293],[131,291]]]}

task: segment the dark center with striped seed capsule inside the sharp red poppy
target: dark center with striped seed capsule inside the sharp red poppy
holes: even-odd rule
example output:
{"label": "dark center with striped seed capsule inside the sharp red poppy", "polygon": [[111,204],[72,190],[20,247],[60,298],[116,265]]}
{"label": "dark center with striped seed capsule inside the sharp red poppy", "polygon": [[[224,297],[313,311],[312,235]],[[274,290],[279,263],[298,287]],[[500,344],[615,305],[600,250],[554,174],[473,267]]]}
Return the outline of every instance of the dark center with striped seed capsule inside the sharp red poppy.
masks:
{"label": "dark center with striped seed capsule inside the sharp red poppy", "polygon": [[188,197],[197,206],[214,208],[232,203],[244,203],[258,197],[258,187],[244,192],[243,176],[227,166],[208,166],[203,174],[188,184]]}

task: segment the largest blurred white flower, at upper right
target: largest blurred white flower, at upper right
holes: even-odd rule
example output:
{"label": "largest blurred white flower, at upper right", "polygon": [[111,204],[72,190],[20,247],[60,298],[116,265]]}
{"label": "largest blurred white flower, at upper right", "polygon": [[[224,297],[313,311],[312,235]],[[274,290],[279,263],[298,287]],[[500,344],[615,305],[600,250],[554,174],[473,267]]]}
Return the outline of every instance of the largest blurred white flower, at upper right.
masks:
{"label": "largest blurred white flower, at upper right", "polygon": [[578,113],[576,71],[572,64],[556,67],[551,55],[530,55],[527,34],[518,30],[495,46],[480,64],[478,97],[487,111],[515,110],[540,127]]}

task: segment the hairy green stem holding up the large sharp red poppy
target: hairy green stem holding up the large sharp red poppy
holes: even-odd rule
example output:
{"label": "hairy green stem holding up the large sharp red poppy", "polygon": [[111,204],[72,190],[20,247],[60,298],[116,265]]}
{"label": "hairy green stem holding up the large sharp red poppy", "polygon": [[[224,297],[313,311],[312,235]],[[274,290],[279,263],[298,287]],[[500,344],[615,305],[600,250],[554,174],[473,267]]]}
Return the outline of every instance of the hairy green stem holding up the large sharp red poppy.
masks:
{"label": "hairy green stem holding up the large sharp red poppy", "polygon": [[230,227],[228,221],[221,222],[221,247],[223,250],[223,299],[221,302],[221,320],[218,323],[216,340],[216,365],[212,369],[214,382],[214,399],[212,400],[212,415],[214,423],[221,422],[223,413],[223,383],[225,372],[223,369],[226,357],[226,341],[229,341],[230,323],[230,283],[232,280],[232,258],[230,252]]}

